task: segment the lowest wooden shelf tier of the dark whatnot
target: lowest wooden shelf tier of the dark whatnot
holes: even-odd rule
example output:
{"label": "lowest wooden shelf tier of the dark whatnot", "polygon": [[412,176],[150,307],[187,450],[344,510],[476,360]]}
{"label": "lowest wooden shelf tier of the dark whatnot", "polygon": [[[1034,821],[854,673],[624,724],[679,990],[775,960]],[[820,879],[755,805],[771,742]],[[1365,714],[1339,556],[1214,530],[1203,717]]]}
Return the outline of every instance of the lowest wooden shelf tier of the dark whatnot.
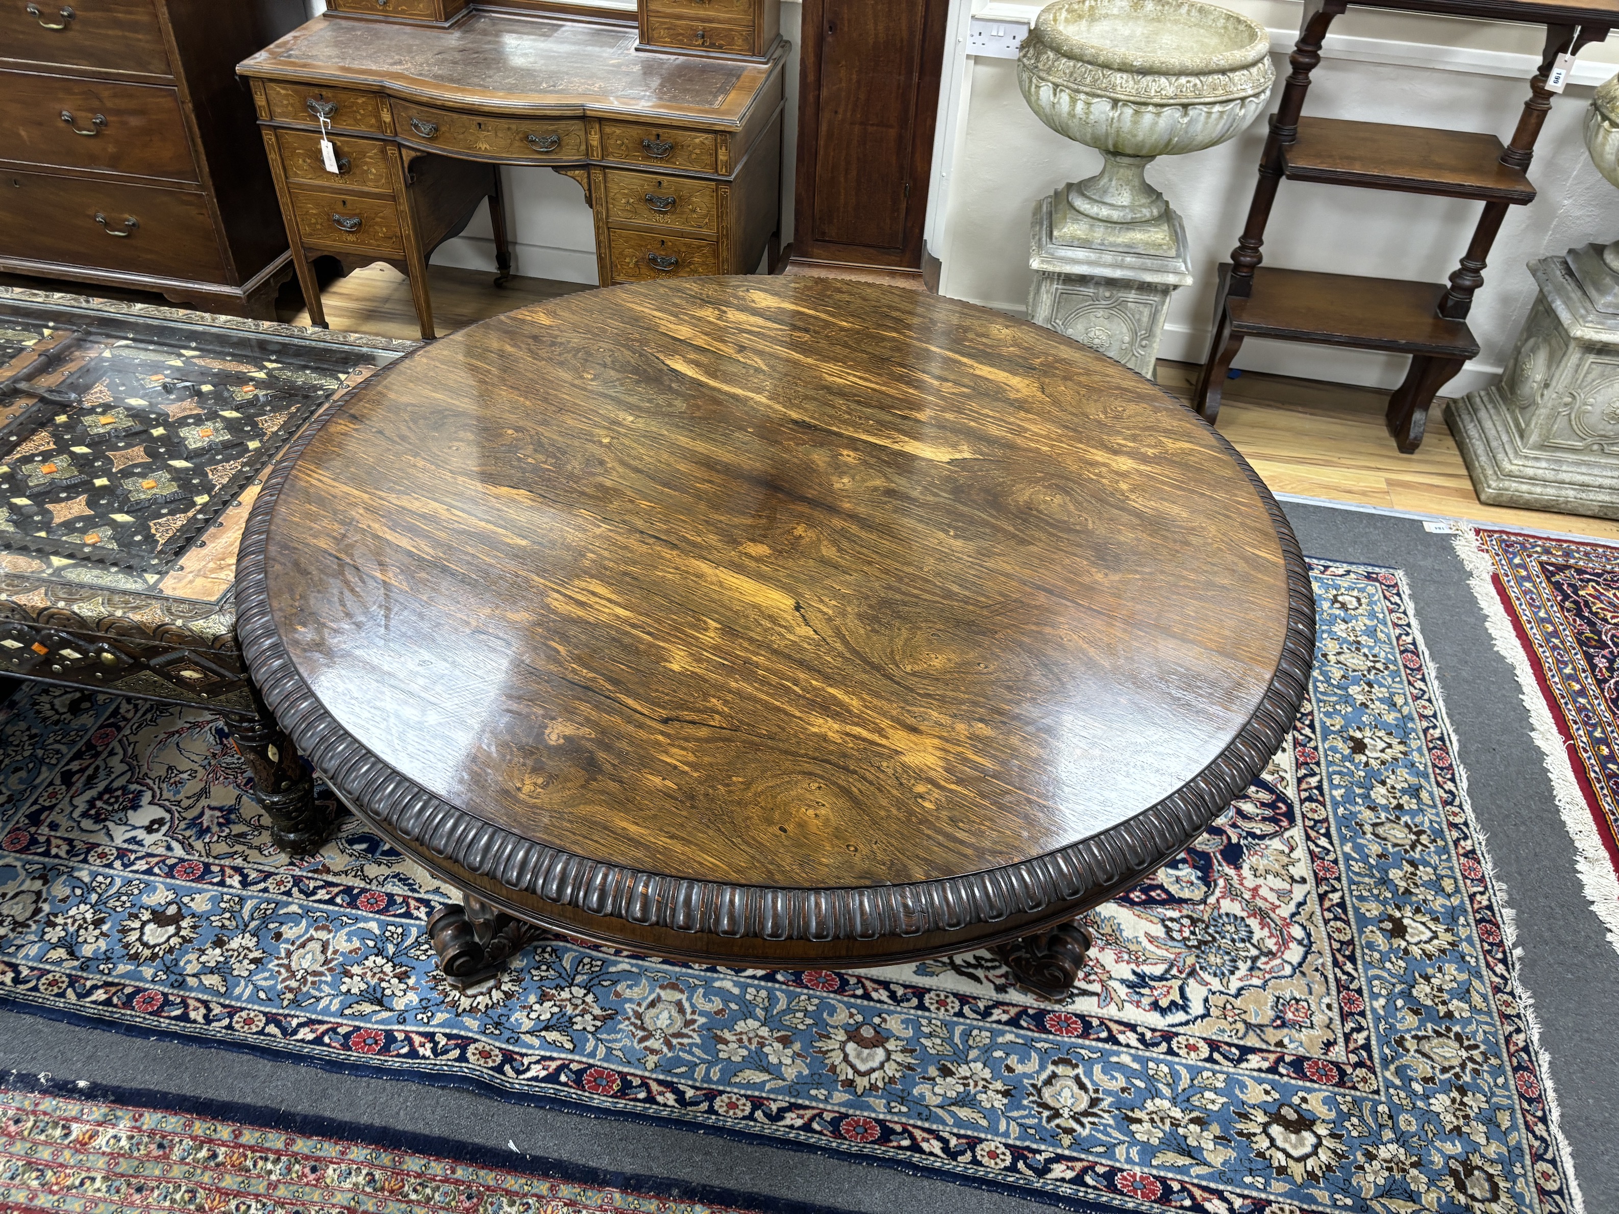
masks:
{"label": "lowest wooden shelf tier of the dark whatnot", "polygon": [[[1221,265],[1221,278],[1230,265]],[[1261,265],[1247,298],[1230,296],[1232,332],[1396,354],[1468,359],[1478,342],[1464,320],[1434,311],[1444,283],[1362,278]]]}

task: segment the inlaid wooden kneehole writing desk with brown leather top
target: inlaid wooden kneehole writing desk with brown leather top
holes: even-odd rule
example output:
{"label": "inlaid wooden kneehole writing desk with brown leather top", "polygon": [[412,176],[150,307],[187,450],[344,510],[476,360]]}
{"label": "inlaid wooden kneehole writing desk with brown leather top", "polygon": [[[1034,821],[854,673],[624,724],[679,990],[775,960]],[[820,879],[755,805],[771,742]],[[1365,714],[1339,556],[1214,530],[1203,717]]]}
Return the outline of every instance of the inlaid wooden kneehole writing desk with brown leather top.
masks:
{"label": "inlaid wooden kneehole writing desk with brown leather top", "polygon": [[638,50],[636,37],[479,10],[448,28],[322,16],[241,63],[311,319],[324,324],[314,257],[387,261],[434,337],[427,257],[484,199],[510,272],[502,163],[584,188],[602,287],[774,261],[785,44],[738,60]]}

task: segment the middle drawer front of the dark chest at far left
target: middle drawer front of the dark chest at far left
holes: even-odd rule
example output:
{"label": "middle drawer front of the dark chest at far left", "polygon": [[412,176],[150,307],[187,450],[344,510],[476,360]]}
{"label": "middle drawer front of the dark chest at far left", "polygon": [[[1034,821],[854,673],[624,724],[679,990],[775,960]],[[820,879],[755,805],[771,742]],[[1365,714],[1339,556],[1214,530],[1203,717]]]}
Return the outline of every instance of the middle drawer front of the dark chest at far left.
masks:
{"label": "middle drawer front of the dark chest at far left", "polygon": [[175,89],[0,71],[0,97],[3,159],[198,180]]}

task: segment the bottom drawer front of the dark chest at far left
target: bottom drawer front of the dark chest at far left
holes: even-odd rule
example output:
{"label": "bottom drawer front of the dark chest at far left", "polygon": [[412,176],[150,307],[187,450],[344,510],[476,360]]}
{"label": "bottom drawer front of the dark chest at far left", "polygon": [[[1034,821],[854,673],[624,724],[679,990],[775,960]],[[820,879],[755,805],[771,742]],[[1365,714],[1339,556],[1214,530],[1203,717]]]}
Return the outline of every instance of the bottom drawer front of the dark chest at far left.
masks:
{"label": "bottom drawer front of the dark chest at far left", "polygon": [[0,173],[0,254],[225,280],[202,194],[81,176]]}

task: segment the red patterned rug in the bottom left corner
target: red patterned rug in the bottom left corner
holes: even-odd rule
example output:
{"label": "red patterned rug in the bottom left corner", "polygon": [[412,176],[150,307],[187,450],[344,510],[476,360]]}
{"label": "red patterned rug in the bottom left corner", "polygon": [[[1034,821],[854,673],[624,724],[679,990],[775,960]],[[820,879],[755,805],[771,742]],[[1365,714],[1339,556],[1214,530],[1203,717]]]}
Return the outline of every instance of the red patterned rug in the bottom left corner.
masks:
{"label": "red patterned rug in the bottom left corner", "polygon": [[0,1211],[834,1214],[248,1106],[175,1109],[176,1099],[0,1086]]}

